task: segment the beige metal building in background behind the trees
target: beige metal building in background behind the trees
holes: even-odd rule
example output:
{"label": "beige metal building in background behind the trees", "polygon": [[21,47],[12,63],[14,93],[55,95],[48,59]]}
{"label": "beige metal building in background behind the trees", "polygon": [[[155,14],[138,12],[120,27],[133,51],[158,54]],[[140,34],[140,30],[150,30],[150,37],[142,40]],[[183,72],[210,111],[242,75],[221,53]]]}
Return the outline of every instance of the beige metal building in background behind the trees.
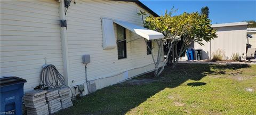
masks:
{"label": "beige metal building in background behind the trees", "polygon": [[217,30],[217,38],[211,42],[204,42],[204,46],[195,43],[195,48],[202,48],[202,59],[210,59],[212,52],[218,49],[224,50],[225,59],[231,59],[233,53],[242,55],[246,52],[246,28],[247,22],[221,23],[213,24],[212,27]]}

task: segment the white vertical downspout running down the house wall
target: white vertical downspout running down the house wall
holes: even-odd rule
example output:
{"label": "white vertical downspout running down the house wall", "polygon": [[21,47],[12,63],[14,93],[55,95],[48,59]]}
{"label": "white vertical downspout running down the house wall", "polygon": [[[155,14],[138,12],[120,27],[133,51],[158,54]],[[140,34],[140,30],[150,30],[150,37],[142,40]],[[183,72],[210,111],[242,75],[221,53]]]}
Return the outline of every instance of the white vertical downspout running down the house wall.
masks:
{"label": "white vertical downspout running down the house wall", "polygon": [[[66,20],[64,1],[59,1],[59,17],[60,20]],[[63,77],[65,78],[65,85],[70,86],[69,80],[69,58],[68,58],[68,39],[66,27],[60,27],[62,60],[63,60]]]}

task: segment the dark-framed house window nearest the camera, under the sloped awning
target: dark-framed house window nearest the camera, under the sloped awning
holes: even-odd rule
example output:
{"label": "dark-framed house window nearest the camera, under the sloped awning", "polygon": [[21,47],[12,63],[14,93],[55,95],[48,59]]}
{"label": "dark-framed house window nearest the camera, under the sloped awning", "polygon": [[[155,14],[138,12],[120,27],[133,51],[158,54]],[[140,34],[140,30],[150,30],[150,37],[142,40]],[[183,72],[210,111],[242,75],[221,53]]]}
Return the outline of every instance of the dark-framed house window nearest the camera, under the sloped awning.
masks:
{"label": "dark-framed house window nearest the camera, under the sloped awning", "polygon": [[125,28],[116,24],[118,59],[126,58]]}

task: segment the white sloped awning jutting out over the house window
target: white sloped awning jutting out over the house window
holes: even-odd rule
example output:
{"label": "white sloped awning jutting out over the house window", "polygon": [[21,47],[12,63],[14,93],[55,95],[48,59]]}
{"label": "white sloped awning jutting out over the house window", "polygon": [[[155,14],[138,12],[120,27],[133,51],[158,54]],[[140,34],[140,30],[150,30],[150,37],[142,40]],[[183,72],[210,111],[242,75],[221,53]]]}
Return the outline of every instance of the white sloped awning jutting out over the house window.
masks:
{"label": "white sloped awning jutting out over the house window", "polygon": [[114,22],[148,40],[164,38],[164,35],[161,32],[143,28],[125,21],[114,20]]}

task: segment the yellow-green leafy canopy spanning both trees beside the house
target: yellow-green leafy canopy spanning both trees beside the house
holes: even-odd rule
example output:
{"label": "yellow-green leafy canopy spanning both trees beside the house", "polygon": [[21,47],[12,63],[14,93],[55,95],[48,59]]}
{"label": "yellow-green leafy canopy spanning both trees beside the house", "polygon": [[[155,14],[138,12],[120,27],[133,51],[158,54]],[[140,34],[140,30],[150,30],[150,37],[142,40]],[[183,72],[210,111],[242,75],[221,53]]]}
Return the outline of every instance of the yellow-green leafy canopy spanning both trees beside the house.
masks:
{"label": "yellow-green leafy canopy spanning both trees beside the house", "polygon": [[[140,11],[138,14],[144,15],[144,13]],[[186,45],[193,42],[203,45],[203,40],[209,42],[217,37],[216,30],[211,27],[211,20],[206,18],[207,15],[198,12],[184,12],[174,17],[171,15],[172,12],[165,11],[161,17],[146,17],[145,27],[161,32],[165,38],[173,35],[181,36]]]}

